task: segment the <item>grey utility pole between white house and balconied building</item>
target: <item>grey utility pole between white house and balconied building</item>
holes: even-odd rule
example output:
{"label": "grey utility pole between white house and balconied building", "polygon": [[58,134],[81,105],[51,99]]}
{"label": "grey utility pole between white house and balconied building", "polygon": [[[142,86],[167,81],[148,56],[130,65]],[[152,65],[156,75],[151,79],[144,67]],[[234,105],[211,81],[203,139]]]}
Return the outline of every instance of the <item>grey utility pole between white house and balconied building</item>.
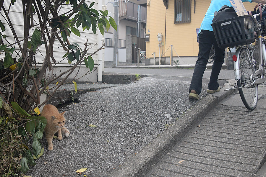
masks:
{"label": "grey utility pole between white house and balconied building", "polygon": [[[114,21],[116,22],[117,25],[117,30],[114,30],[113,32],[113,63],[116,63],[116,56],[118,60],[118,55],[116,52],[118,52],[118,47],[119,47],[119,36],[118,36],[118,29],[119,29],[119,1],[114,0]],[[119,61],[119,60],[118,60]]]}

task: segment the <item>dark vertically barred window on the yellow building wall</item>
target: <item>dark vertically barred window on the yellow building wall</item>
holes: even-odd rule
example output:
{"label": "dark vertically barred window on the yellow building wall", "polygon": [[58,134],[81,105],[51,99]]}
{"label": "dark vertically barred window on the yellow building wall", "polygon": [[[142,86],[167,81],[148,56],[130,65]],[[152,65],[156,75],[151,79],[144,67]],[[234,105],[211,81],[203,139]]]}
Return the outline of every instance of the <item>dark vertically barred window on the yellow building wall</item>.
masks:
{"label": "dark vertically barred window on the yellow building wall", "polygon": [[174,23],[190,23],[191,0],[175,0]]}

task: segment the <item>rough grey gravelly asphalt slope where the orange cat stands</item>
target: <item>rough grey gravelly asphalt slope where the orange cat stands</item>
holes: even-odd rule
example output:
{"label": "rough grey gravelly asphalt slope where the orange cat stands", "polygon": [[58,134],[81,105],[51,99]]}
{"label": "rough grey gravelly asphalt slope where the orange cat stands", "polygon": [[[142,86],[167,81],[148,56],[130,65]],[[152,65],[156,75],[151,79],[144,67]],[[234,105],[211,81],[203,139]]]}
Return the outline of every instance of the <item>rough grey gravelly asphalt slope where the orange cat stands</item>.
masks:
{"label": "rough grey gravelly asphalt slope where the orange cat stands", "polygon": [[[76,170],[88,168],[81,176],[105,176],[127,158],[140,152],[180,118],[197,101],[188,98],[190,82],[145,77],[135,83],[90,92],[79,103],[65,105],[70,135],[44,154],[27,175],[32,177],[75,177]],[[207,95],[202,85],[201,97]],[[90,124],[97,127],[89,127]],[[90,172],[88,172],[90,171]]]}

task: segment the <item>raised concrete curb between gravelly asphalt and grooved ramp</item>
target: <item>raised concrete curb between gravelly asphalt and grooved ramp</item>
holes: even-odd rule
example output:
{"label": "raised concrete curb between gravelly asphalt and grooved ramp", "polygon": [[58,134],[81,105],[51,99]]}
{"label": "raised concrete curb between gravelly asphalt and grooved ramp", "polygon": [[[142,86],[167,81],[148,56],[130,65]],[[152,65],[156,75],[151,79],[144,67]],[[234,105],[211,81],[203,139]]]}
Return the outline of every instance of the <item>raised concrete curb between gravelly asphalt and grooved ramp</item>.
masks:
{"label": "raised concrete curb between gravelly asphalt and grooved ramp", "polygon": [[232,86],[224,86],[220,92],[207,95],[197,105],[187,111],[174,125],[160,134],[140,153],[129,158],[118,170],[111,173],[112,177],[144,176],[158,161],[173,148],[202,118],[204,118],[219,102],[234,93],[225,91]]}

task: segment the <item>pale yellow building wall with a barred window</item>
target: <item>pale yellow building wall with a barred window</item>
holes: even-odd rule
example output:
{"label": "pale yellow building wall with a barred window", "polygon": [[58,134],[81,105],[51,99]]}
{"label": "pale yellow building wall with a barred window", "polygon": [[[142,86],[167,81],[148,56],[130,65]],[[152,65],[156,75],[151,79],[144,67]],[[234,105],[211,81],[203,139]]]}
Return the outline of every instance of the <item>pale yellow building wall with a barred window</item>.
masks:
{"label": "pale yellow building wall with a barred window", "polygon": [[[152,53],[159,57],[158,33],[163,34],[163,55],[169,57],[170,45],[173,45],[173,56],[197,56],[198,43],[196,28],[200,28],[203,17],[211,0],[196,0],[194,13],[194,1],[191,1],[190,23],[174,24],[174,0],[168,1],[168,9],[162,0],[148,0],[146,34],[150,34],[150,41],[146,42],[146,56],[153,58]],[[244,2],[247,11],[253,11],[257,3]],[[162,47],[160,47],[162,55]]]}

